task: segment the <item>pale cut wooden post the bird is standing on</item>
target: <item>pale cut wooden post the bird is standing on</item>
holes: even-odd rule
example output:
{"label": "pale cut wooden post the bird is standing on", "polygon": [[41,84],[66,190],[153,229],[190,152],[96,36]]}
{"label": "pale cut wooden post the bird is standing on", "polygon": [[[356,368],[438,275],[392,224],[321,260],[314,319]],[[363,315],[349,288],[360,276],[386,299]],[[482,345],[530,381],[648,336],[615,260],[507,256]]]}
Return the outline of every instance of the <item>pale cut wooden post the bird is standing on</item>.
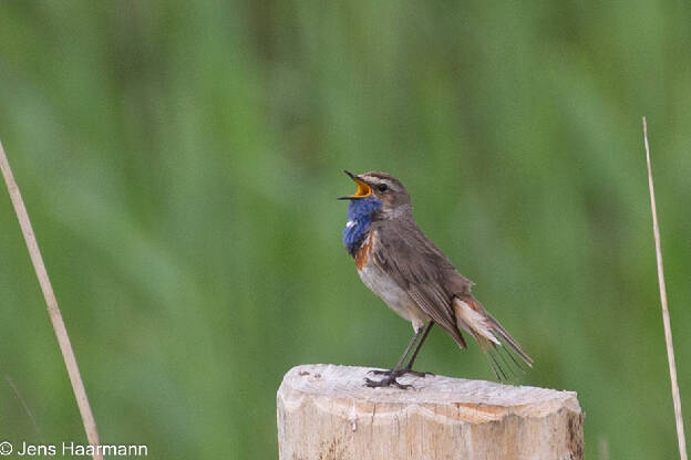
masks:
{"label": "pale cut wooden post the bird is standing on", "polygon": [[576,393],[442,376],[368,388],[369,368],[305,365],[278,389],[280,460],[582,459]]}

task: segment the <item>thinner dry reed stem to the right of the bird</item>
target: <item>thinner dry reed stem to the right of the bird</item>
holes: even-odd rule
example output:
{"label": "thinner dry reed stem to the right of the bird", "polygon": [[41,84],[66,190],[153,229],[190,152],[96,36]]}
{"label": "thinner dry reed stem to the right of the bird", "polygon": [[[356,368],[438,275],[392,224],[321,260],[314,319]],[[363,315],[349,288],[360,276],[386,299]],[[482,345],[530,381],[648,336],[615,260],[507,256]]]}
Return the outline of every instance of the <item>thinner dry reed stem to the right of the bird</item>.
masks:
{"label": "thinner dry reed stem to the right of the bird", "polygon": [[662,323],[664,324],[664,342],[667,344],[667,360],[672,381],[672,401],[674,404],[674,418],[677,419],[677,438],[679,440],[679,458],[688,460],[687,441],[683,432],[683,418],[681,412],[681,396],[677,383],[677,364],[674,363],[674,345],[672,344],[672,328],[670,326],[669,310],[667,307],[667,288],[664,286],[664,271],[662,269],[662,249],[660,248],[660,226],[658,223],[658,210],[654,200],[654,187],[652,185],[652,167],[650,166],[650,147],[648,145],[648,124],[643,117],[643,143],[646,145],[646,161],[648,163],[648,187],[650,189],[650,210],[652,211],[652,233],[656,241],[656,258],[658,261],[658,284],[660,286],[660,304],[662,305]]}

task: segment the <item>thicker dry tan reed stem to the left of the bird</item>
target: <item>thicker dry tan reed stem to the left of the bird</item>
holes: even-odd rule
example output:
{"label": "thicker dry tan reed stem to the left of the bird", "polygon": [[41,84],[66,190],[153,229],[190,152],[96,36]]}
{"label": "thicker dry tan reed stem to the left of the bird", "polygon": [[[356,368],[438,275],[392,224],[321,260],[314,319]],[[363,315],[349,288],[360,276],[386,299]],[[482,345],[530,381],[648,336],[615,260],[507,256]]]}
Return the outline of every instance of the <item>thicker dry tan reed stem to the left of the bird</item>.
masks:
{"label": "thicker dry tan reed stem to the left of the bird", "polygon": [[[43,258],[41,257],[41,251],[39,250],[39,243],[33,234],[33,228],[31,227],[31,221],[29,220],[29,213],[27,212],[24,200],[22,199],[19,187],[14,181],[14,176],[12,175],[12,169],[10,169],[10,164],[7,159],[7,155],[4,154],[2,143],[0,143],[0,169],[2,169],[2,176],[4,177],[4,182],[10,194],[10,199],[12,200],[12,206],[14,207],[17,219],[19,220],[19,226],[21,227],[22,234],[24,236],[24,241],[27,242],[27,248],[29,249],[29,255],[31,257],[33,269],[35,270],[37,278],[39,279],[41,291],[43,291],[43,297],[45,299],[45,304],[48,306],[48,315],[53,324],[53,330],[55,331],[55,336],[58,337],[58,344],[60,345],[60,351],[62,352],[62,357],[64,359],[65,367],[68,368],[68,375],[70,376],[76,405],[79,406],[80,414],[82,416],[86,438],[89,439],[90,445],[99,446],[101,442],[99,441],[96,421],[94,420],[91,406],[89,405],[89,399],[86,398],[86,390],[84,389],[82,376],[80,375],[79,366],[76,365],[76,358],[74,357],[74,352],[72,351],[70,336],[68,335],[68,330],[62,321],[62,314],[60,313],[60,307],[58,306],[58,300],[53,293],[50,279],[48,278],[45,264],[43,263]],[[95,449],[93,458],[94,460],[103,460],[103,456],[99,452],[99,449]]]}

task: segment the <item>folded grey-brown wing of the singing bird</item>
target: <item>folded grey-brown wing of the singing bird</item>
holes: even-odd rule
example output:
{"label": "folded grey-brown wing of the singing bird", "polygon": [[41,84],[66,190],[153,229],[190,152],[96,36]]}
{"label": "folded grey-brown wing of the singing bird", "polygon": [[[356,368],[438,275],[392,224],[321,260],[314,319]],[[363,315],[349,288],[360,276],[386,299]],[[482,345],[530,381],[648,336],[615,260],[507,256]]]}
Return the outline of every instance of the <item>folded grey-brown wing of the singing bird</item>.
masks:
{"label": "folded grey-brown wing of the singing bird", "polygon": [[378,222],[379,244],[374,261],[456,343],[466,344],[456,326],[452,299],[470,294],[473,282],[454,269],[451,261],[410,218]]}

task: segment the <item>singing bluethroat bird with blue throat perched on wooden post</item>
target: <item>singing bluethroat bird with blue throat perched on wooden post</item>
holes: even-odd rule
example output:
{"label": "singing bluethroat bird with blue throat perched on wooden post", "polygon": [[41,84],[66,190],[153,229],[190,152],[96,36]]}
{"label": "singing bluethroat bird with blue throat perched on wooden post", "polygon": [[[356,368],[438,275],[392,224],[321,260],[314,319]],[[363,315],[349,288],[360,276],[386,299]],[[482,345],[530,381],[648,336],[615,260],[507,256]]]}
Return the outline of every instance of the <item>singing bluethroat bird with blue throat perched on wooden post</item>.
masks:
{"label": "singing bluethroat bird with blue throat perched on wooden post", "polygon": [[523,369],[514,354],[533,367],[533,359],[471,294],[474,283],[458,273],[420,230],[403,184],[381,171],[359,176],[344,172],[358,190],[339,198],[349,200],[343,244],[354,259],[362,282],[410,321],[414,331],[399,363],[390,370],[372,370],[383,378],[365,378],[365,385],[408,388],[410,385],[399,383],[398,377],[424,376],[426,373],[413,370],[413,363],[435,323],[461,348],[466,348],[462,331],[475,337],[499,380],[507,378],[507,372]]}

